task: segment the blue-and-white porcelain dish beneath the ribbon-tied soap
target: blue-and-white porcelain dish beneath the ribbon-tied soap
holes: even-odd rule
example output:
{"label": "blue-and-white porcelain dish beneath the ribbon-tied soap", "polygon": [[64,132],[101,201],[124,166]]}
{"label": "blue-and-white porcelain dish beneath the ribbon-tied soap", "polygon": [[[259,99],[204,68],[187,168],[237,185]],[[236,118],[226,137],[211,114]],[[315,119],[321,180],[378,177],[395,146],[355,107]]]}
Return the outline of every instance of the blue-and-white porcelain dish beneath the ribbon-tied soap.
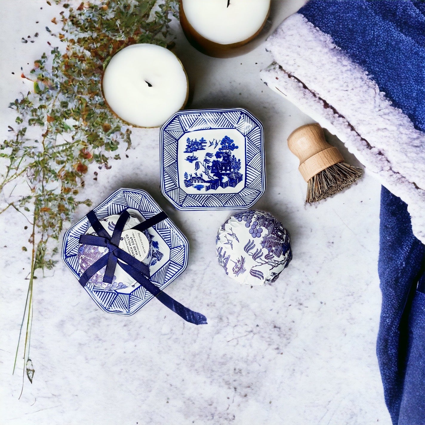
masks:
{"label": "blue-and-white porcelain dish beneath the ribbon-tied soap", "polygon": [[[128,209],[131,215],[144,221],[161,212],[161,207],[144,190],[119,189],[93,210],[99,219],[119,214]],[[83,217],[65,233],[62,246],[62,260],[79,279],[81,271],[78,262],[79,237],[90,227],[87,217]],[[187,266],[189,242],[176,225],[169,219],[147,229],[152,244],[150,260],[150,280],[163,290],[176,279]],[[153,295],[139,283],[134,287],[102,289],[88,283],[84,289],[94,302],[105,312],[130,316],[149,302]]]}

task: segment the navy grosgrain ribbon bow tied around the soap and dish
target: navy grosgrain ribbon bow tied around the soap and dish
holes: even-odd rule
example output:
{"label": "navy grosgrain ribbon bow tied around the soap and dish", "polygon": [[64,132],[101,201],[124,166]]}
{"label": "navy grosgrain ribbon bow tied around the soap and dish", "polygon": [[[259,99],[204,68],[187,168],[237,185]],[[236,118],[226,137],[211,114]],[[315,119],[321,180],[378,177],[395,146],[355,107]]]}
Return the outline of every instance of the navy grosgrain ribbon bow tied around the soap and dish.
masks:
{"label": "navy grosgrain ribbon bow tied around the soap and dish", "polygon": [[[182,304],[178,303],[176,300],[171,298],[165,292],[162,292],[157,286],[155,286],[150,281],[150,271],[149,266],[142,263],[141,261],[134,258],[128,252],[119,248],[119,241],[121,238],[122,230],[124,229],[125,223],[130,218],[130,214],[127,210],[124,210],[115,224],[112,236],[105,230],[105,228],[100,224],[99,219],[96,217],[94,211],[90,211],[87,214],[88,221],[90,221],[91,226],[94,231],[99,235],[81,235],[79,238],[79,243],[84,245],[94,245],[102,246],[108,248],[108,253],[103,255],[99,260],[93,263],[79,278],[79,283],[81,286],[87,285],[90,278],[96,274],[100,269],[106,266],[105,275],[103,281],[105,283],[112,283],[113,275],[115,272],[115,267],[117,264],[122,267],[122,269],[127,272],[134,280],[136,280],[140,285],[142,285],[148,292],[154,295],[164,306],[167,306],[170,310],[177,313],[180,317],[190,323],[195,323],[195,325],[204,325],[207,324],[207,318],[201,314],[194,312]],[[165,212],[161,211],[159,214],[154,215],[151,218],[143,221],[137,226],[132,227],[132,229],[139,230],[143,232],[149,227],[158,224],[160,221],[167,218]],[[120,261],[122,260],[122,261]],[[125,261],[125,263],[123,263]]]}

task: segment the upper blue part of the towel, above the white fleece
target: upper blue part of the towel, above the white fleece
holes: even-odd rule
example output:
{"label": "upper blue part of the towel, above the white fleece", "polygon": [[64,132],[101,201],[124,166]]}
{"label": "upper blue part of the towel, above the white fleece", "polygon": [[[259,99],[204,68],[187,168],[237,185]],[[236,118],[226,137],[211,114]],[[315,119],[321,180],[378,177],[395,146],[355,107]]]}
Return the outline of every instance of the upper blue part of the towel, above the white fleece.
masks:
{"label": "upper blue part of the towel, above the white fleece", "polygon": [[[418,41],[425,36],[423,15],[415,13],[407,19],[398,3],[404,1],[311,0],[298,13],[329,34],[348,57],[368,71],[416,129],[425,131],[425,49]],[[410,6],[419,11],[413,3]],[[397,28],[404,28],[406,20],[410,22],[405,30],[409,36]]]}

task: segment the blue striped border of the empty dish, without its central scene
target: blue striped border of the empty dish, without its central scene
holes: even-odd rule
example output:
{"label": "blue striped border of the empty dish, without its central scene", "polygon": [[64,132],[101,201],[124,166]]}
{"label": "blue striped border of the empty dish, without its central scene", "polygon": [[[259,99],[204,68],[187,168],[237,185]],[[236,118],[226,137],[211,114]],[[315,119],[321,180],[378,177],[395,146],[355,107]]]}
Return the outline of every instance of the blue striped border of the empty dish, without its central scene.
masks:
{"label": "blue striped border of the empty dish, without its central scene", "polygon": [[[177,142],[201,129],[236,129],[246,141],[246,180],[239,193],[190,195],[178,186]],[[242,108],[175,113],[161,127],[161,192],[178,210],[237,210],[252,207],[266,190],[263,125]]]}

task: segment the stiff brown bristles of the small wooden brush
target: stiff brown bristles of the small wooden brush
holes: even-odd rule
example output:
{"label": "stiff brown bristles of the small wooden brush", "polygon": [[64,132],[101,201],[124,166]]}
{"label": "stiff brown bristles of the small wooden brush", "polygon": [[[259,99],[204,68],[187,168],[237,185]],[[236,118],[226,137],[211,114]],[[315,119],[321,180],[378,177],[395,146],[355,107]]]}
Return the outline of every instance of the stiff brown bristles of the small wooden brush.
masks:
{"label": "stiff brown bristles of the small wooden brush", "polygon": [[334,195],[354,183],[362,174],[361,168],[352,167],[345,162],[331,165],[310,178],[306,202],[317,202]]}

